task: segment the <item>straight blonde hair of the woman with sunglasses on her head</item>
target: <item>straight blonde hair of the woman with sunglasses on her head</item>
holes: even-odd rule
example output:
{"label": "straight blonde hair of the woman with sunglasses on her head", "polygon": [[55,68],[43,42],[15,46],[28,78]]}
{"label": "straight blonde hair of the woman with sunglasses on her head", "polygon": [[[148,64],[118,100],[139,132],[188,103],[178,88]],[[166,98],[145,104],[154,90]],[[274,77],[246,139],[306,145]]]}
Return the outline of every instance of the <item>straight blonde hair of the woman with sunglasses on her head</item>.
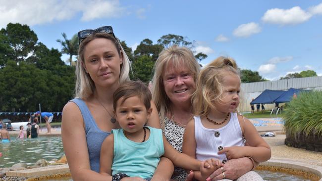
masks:
{"label": "straight blonde hair of the woman with sunglasses on her head", "polygon": [[84,51],[86,45],[91,41],[98,39],[98,38],[105,38],[115,45],[118,55],[123,57],[123,63],[120,65],[120,75],[119,75],[119,83],[123,83],[125,81],[129,81],[129,71],[131,70],[130,60],[127,57],[123,47],[120,45],[118,40],[116,40],[112,35],[107,33],[94,33],[84,39],[81,44],[79,45],[78,49],[78,59],[76,63],[76,71],[75,71],[75,97],[86,99],[91,96],[95,90],[95,84],[91,79],[90,75],[86,73],[85,68],[82,66],[82,62],[84,61]]}

